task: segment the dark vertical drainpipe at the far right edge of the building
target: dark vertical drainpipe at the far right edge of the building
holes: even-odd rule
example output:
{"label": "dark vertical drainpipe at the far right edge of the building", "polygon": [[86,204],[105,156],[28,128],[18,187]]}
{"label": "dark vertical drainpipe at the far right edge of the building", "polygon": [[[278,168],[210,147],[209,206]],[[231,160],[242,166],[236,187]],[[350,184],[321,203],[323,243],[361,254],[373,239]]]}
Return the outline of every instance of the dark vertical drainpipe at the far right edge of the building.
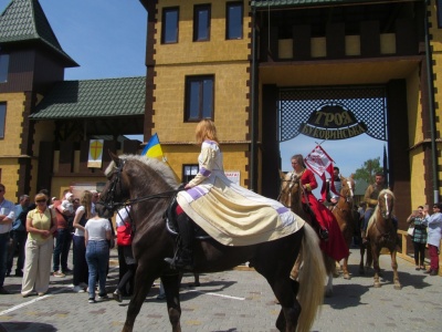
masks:
{"label": "dark vertical drainpipe at the far right edge of the building", "polygon": [[439,201],[439,187],[438,187],[438,154],[435,145],[435,126],[434,126],[434,87],[433,87],[433,66],[432,66],[432,54],[430,48],[430,28],[428,19],[428,6],[431,6],[430,0],[423,2],[423,22],[424,22],[424,34],[425,34],[425,61],[427,61],[427,80],[428,80],[428,98],[429,98],[429,113],[430,113],[430,133],[431,133],[431,166],[433,174],[433,195],[434,203]]}

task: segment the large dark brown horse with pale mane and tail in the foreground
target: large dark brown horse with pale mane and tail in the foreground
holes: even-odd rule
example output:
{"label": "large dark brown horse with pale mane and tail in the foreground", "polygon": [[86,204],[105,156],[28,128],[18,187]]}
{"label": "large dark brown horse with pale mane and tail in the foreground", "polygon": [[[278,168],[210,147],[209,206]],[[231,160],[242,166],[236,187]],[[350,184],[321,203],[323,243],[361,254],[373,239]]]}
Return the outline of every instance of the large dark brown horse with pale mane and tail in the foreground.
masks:
{"label": "large dark brown horse with pale mane and tail in the foreground", "polygon": [[[135,237],[134,256],[138,261],[135,290],[123,331],[134,323],[155,279],[165,288],[172,331],[181,331],[179,272],[164,261],[172,257],[176,238],[168,231],[164,214],[178,191],[172,170],[164,163],[141,156],[113,155],[106,169],[108,181],[97,205],[98,214],[110,217],[122,205],[130,205]],[[298,281],[290,278],[295,257],[303,248],[304,267]],[[317,237],[308,225],[293,235],[270,242],[227,247],[213,239],[197,239],[193,246],[193,272],[215,272],[249,261],[272,287],[282,309],[276,320],[280,331],[309,331],[323,302],[325,272]],[[296,330],[297,329],[297,330]]]}

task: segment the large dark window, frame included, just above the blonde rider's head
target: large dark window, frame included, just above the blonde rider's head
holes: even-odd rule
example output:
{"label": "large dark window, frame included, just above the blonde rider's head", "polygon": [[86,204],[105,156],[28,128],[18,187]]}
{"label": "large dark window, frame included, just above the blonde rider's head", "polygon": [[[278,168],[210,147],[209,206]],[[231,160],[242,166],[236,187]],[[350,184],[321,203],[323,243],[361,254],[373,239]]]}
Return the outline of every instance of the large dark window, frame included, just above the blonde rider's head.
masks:
{"label": "large dark window, frame included, just above the blonde rider's head", "polygon": [[186,118],[213,118],[213,75],[186,77]]}

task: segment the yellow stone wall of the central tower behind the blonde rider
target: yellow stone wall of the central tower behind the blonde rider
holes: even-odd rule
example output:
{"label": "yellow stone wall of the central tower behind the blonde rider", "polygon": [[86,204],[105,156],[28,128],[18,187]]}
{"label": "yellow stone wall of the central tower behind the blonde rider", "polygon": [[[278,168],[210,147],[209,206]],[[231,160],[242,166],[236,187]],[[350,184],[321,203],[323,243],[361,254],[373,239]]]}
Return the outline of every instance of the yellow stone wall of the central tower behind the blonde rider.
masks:
{"label": "yellow stone wall of the central tower behind the blonde rider", "polygon": [[[240,170],[248,179],[244,144],[249,134],[250,8],[244,0],[243,39],[225,40],[225,0],[164,0],[158,4],[155,34],[154,128],[162,152],[179,180],[182,165],[197,164],[196,123],[185,123],[185,82],[190,75],[214,76],[214,123],[227,170]],[[193,6],[211,3],[210,41],[193,42]],[[178,43],[161,44],[162,8],[179,7]],[[225,144],[225,142],[238,142]],[[224,142],[224,144],[223,144]]]}

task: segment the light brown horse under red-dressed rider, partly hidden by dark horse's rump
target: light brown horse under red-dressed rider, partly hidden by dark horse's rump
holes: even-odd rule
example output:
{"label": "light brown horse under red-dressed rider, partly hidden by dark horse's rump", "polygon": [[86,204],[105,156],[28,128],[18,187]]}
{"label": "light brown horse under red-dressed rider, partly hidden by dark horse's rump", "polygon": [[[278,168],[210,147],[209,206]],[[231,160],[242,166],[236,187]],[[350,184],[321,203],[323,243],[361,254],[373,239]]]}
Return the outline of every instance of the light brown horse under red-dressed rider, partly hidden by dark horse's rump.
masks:
{"label": "light brown horse under red-dressed rider, partly hidden by dark horse's rump", "polygon": [[[305,221],[309,222],[312,225],[311,218],[312,216],[304,209],[303,207],[303,190],[301,190],[301,178],[297,177],[293,172],[284,174],[280,170],[280,177],[281,177],[281,193],[278,196],[280,203],[288,207],[293,212],[298,215],[301,218],[303,218]],[[327,286],[325,289],[325,295],[326,297],[332,297],[333,294],[333,276],[336,273],[336,261],[324,253],[323,251],[323,258],[324,258],[324,266],[326,269],[326,273],[328,276],[328,281]],[[298,257],[295,261],[295,264],[292,269],[291,272],[291,278],[293,280],[296,280],[297,273],[299,272],[299,267],[301,267],[302,260]]]}

